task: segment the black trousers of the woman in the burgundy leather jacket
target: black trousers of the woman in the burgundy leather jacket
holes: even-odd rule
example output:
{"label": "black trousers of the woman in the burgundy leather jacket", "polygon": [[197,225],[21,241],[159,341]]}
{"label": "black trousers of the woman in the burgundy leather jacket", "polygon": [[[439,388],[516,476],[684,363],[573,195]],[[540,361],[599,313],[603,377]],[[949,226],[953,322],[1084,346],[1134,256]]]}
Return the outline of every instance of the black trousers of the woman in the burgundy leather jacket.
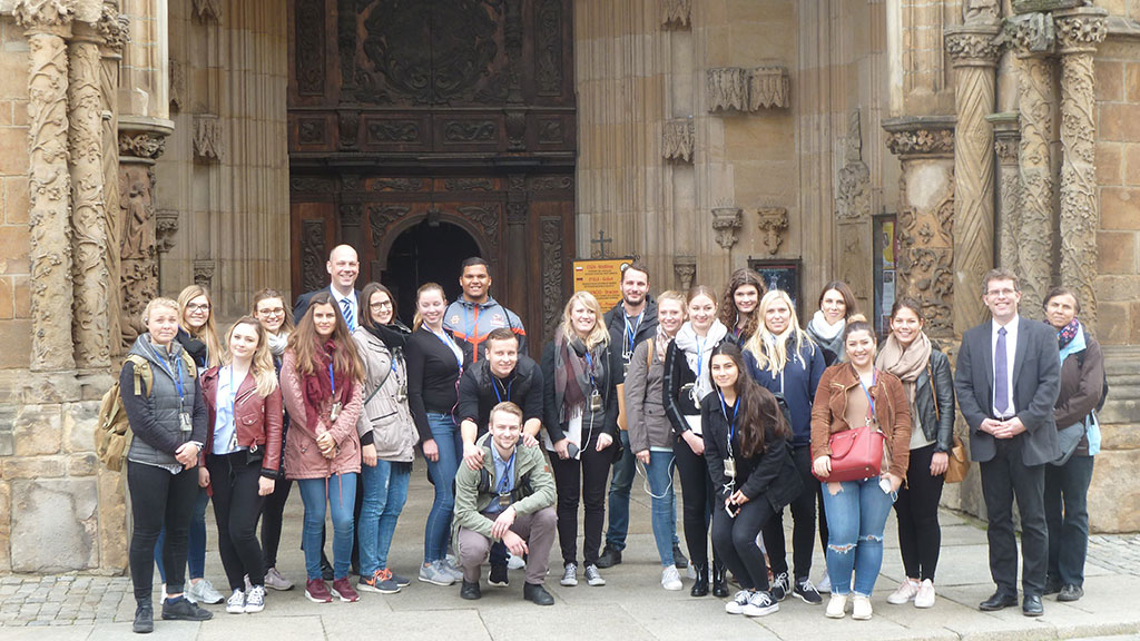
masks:
{"label": "black trousers of the woman in the burgundy leather jacket", "polygon": [[258,518],[266,502],[258,495],[261,461],[249,460],[245,452],[206,456],[210,487],[213,488],[214,519],[218,521],[218,552],[226,568],[230,590],[266,584],[266,560],[258,543]]}

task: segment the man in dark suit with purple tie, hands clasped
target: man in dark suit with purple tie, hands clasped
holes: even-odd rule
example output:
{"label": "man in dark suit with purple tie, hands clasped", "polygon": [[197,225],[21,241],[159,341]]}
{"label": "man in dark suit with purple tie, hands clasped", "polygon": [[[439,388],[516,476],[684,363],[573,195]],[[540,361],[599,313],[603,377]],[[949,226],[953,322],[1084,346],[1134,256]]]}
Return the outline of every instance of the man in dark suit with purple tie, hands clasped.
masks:
{"label": "man in dark suit with purple tie, hands clasped", "polygon": [[990,528],[990,574],[997,591],[978,607],[1017,605],[1013,498],[1021,516],[1021,614],[1041,616],[1045,589],[1045,464],[1060,455],[1053,404],[1060,391],[1057,332],[1020,318],[1017,276],[992,269],[983,301],[993,318],[962,336],[954,372],[958,404],[970,425],[970,455],[982,466]]}

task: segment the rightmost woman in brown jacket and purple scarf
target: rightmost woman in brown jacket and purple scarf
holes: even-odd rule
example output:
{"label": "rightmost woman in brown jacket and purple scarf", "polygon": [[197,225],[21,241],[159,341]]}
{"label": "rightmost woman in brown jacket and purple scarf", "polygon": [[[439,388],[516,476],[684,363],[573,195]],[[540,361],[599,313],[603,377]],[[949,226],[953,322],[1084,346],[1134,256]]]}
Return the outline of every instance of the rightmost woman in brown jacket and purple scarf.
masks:
{"label": "rightmost woman in brown jacket and purple scarf", "polygon": [[[1089,551],[1089,484],[1092,460],[1100,452],[1096,411],[1105,395],[1105,355],[1100,343],[1077,319],[1081,301],[1067,287],[1045,294],[1047,322],[1057,330],[1061,357],[1061,391],[1053,406],[1057,429],[1080,433],[1062,454],[1067,461],[1045,465],[1045,524],[1049,527],[1049,569],[1045,594],[1058,601],[1084,597],[1084,560]],[[1075,439],[1074,439],[1075,440]]]}

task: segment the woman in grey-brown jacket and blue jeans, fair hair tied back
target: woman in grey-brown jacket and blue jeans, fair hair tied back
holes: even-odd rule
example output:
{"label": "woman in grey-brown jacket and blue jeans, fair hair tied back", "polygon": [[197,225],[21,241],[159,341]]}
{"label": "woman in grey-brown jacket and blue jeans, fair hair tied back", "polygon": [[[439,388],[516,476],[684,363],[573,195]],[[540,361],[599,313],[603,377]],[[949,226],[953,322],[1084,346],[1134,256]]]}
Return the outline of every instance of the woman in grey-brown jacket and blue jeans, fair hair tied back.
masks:
{"label": "woman in grey-brown jacket and blue jeans, fair hair tied back", "polygon": [[677,539],[677,501],[673,492],[673,446],[676,437],[665,415],[665,356],[685,322],[685,297],[668,291],[657,297],[657,334],[642,341],[626,372],[629,448],[645,466],[652,504],[653,538],[661,557],[661,587],[681,590],[673,555]]}

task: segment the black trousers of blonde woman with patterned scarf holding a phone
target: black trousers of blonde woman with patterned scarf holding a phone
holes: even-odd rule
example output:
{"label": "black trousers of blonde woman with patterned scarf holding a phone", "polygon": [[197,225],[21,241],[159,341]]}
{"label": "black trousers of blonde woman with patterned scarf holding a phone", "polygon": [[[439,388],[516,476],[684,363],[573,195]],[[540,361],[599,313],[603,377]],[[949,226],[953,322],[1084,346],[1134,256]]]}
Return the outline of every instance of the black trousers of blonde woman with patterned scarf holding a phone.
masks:
{"label": "black trousers of blonde woman with patterned scarf holding a phone", "polygon": [[[605,522],[605,482],[610,479],[610,463],[613,448],[597,452],[597,435],[581,448],[580,460],[563,461],[554,452],[549,453],[557,489],[559,546],[562,547],[562,565],[578,562],[578,503],[586,508],[583,557],[587,566],[597,563],[598,547],[602,545],[602,526]],[[462,464],[462,462],[461,462]]]}

